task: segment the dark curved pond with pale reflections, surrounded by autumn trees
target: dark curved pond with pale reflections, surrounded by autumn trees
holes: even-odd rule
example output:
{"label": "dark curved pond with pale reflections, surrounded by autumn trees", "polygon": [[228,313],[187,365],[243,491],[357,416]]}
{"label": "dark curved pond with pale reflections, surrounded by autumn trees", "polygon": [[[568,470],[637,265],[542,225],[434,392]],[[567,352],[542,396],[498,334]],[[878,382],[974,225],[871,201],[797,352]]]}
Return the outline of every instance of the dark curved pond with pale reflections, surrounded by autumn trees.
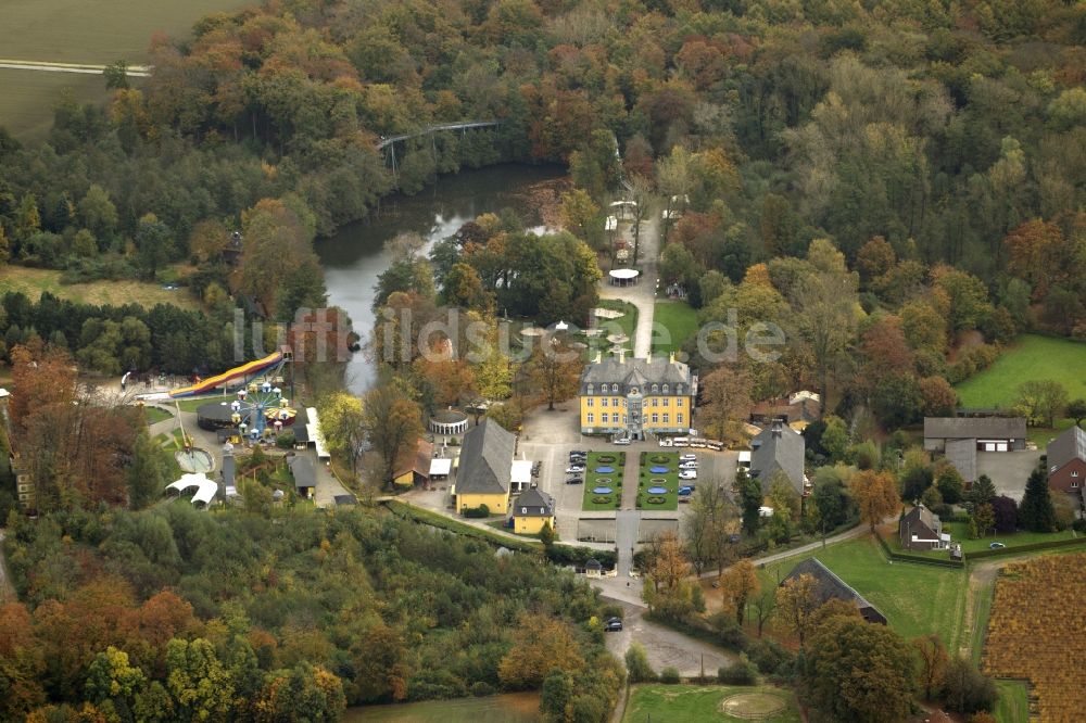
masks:
{"label": "dark curved pond with pale reflections, surrounded by autumn trees", "polygon": [[[526,226],[539,227],[543,219],[532,189],[564,176],[560,166],[502,164],[442,176],[417,195],[382,199],[371,219],[317,240],[328,303],[345,309],[355,331],[368,340],[374,328],[374,287],[391,263],[387,241],[402,231],[413,231],[433,243],[452,236],[465,221],[503,208],[517,212]],[[374,365],[365,353],[355,354],[348,364],[348,388],[355,394],[365,392],[374,376]]]}

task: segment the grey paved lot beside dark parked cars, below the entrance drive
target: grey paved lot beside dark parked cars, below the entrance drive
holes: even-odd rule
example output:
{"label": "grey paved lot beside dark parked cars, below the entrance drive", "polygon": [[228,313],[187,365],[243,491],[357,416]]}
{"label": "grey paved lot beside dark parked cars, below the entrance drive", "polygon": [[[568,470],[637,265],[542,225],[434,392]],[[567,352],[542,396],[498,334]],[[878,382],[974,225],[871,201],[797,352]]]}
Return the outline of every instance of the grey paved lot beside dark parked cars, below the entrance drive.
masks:
{"label": "grey paved lot beside dark parked cars, below the entrance drive", "polygon": [[606,633],[607,649],[619,660],[626,656],[633,640],[645,648],[648,662],[657,673],[673,665],[684,677],[700,675],[704,662],[705,674],[716,675],[718,668],[737,659],[732,652],[646,620],[644,614],[647,610],[644,608],[622,604],[622,632]]}

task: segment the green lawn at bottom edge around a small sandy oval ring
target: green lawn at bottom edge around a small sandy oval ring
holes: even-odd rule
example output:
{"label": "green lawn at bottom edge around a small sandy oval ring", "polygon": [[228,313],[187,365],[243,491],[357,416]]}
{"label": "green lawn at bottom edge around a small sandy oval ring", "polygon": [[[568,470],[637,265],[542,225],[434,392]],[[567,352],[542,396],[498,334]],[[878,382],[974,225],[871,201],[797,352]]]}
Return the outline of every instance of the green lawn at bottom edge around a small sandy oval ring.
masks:
{"label": "green lawn at bottom edge around a small sandy oval ring", "polygon": [[647,723],[648,721],[708,723],[709,721],[749,720],[749,718],[736,718],[724,713],[720,709],[720,703],[732,696],[752,694],[763,701],[780,702],[783,706],[780,712],[758,720],[769,723],[799,723],[803,720],[796,706],[795,695],[784,688],[770,686],[727,687],[721,685],[636,685],[630,694],[630,701],[626,707],[622,723]]}

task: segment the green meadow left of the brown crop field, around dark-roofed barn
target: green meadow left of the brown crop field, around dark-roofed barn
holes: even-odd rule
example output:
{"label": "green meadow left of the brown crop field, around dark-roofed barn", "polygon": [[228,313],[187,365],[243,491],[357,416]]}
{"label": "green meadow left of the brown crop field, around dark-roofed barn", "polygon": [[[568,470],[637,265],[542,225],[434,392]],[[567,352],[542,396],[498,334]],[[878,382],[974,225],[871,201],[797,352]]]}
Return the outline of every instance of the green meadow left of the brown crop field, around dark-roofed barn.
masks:
{"label": "green meadow left of the brown crop field, around dark-roofed barn", "polygon": [[904,562],[891,565],[879,542],[864,536],[771,563],[758,573],[762,585],[776,585],[792,568],[809,557],[818,558],[851,585],[906,638],[934,632],[939,634],[947,649],[958,649],[968,587],[963,570]]}

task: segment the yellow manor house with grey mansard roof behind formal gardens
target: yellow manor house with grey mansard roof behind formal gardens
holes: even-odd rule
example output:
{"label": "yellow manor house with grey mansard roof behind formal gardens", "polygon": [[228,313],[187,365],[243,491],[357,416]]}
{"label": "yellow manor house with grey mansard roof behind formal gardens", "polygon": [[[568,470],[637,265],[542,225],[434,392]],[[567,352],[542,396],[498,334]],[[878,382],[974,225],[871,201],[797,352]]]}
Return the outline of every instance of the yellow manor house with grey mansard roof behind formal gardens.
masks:
{"label": "yellow manor house with grey mansard roof behind formal gardens", "polygon": [[596,360],[581,375],[581,433],[631,440],[686,434],[693,422],[697,377],[669,358]]}

